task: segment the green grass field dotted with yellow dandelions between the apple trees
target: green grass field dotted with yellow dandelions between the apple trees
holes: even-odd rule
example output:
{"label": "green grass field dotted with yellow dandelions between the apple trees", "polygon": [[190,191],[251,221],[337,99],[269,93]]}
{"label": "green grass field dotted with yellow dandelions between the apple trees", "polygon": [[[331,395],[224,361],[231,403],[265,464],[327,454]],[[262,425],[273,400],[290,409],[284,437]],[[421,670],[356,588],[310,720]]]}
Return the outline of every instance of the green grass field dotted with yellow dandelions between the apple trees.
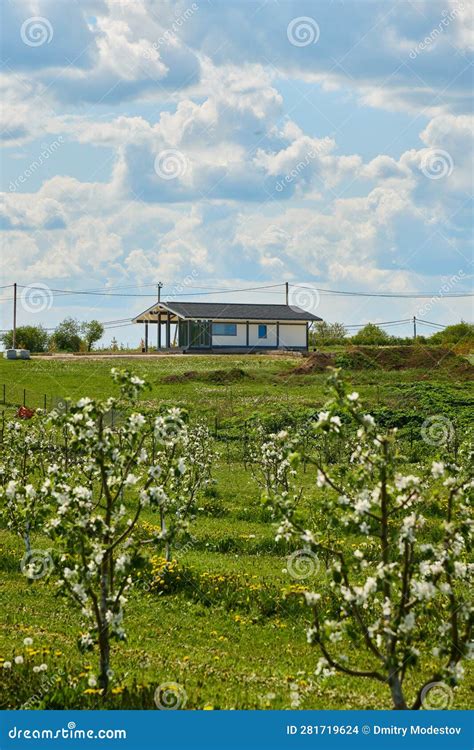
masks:
{"label": "green grass field dotted with yellow dandelions between the apple trees", "polygon": [[[202,498],[193,543],[177,554],[189,583],[161,595],[139,587],[133,591],[126,610],[128,641],[113,657],[119,678],[184,685],[189,708],[289,708],[295,691],[301,708],[390,707],[388,691],[377,683],[347,676],[315,679],[319,654],[306,643],[308,615],[299,600],[287,596],[295,586],[285,568],[292,548],[274,542],[271,518],[242,462],[242,435],[252,416],[280,427],[304,419],[328,398],[326,374],[291,375],[299,364],[282,356],[0,360],[6,417],[22,403],[23,389],[32,407],[42,405],[44,394],[110,395],[111,366],[127,366],[151,384],[145,396],[150,406],[182,406],[192,417],[206,419],[216,435],[215,489]],[[419,433],[427,416],[448,414],[460,431],[472,418],[472,380],[468,374],[453,377],[450,368],[359,367],[345,376],[372,413],[400,427],[407,460],[416,461],[427,450]],[[299,481],[310,514],[319,490],[309,469],[300,471]],[[156,523],[151,513],[146,520]],[[347,543],[359,541],[354,537]],[[45,537],[34,542],[48,546]],[[52,582],[27,582],[18,567],[22,554],[21,540],[0,529],[0,656],[9,658],[25,636],[32,636],[38,647],[59,649],[64,656],[58,659],[67,658],[80,672],[95,657],[85,658],[76,649],[76,615],[55,596]],[[324,570],[318,571],[316,586],[318,577],[323,585]],[[471,699],[466,680],[453,707],[465,708]]]}

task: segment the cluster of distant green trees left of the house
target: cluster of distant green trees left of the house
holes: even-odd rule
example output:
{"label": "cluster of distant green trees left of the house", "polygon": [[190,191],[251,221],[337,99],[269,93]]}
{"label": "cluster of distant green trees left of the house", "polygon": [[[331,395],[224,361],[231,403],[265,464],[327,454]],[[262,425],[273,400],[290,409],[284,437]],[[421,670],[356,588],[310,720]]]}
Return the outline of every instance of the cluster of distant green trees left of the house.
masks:
{"label": "cluster of distant green trees left of the house", "polygon": [[[104,326],[98,320],[80,322],[75,318],[66,318],[51,334],[41,325],[19,326],[16,329],[16,346],[31,352],[90,352],[103,335]],[[6,349],[11,349],[13,330],[4,333],[1,340]]]}

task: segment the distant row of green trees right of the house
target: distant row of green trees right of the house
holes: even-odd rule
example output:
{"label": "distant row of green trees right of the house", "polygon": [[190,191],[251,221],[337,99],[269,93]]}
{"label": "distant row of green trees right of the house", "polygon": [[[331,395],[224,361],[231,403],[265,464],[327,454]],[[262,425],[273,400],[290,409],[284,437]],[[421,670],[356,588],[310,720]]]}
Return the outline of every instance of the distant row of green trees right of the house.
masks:
{"label": "distant row of green trees right of the house", "polygon": [[[472,323],[456,323],[437,331],[431,336],[417,336],[419,344],[465,344],[474,346],[474,325]],[[310,346],[324,347],[336,344],[356,344],[363,346],[391,346],[413,344],[412,337],[391,336],[375,323],[367,323],[354,336],[348,336],[347,329],[342,323],[327,323],[321,320],[316,323],[309,335]]]}

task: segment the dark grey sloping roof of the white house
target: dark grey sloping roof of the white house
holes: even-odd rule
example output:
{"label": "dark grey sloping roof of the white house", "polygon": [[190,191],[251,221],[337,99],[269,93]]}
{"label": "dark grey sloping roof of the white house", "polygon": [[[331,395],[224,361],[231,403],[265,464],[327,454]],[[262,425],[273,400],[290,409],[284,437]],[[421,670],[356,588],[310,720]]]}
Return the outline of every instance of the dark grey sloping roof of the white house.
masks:
{"label": "dark grey sloping roof of the white house", "polygon": [[321,320],[300,307],[288,305],[246,305],[229,302],[164,302],[183,318],[201,320]]}

